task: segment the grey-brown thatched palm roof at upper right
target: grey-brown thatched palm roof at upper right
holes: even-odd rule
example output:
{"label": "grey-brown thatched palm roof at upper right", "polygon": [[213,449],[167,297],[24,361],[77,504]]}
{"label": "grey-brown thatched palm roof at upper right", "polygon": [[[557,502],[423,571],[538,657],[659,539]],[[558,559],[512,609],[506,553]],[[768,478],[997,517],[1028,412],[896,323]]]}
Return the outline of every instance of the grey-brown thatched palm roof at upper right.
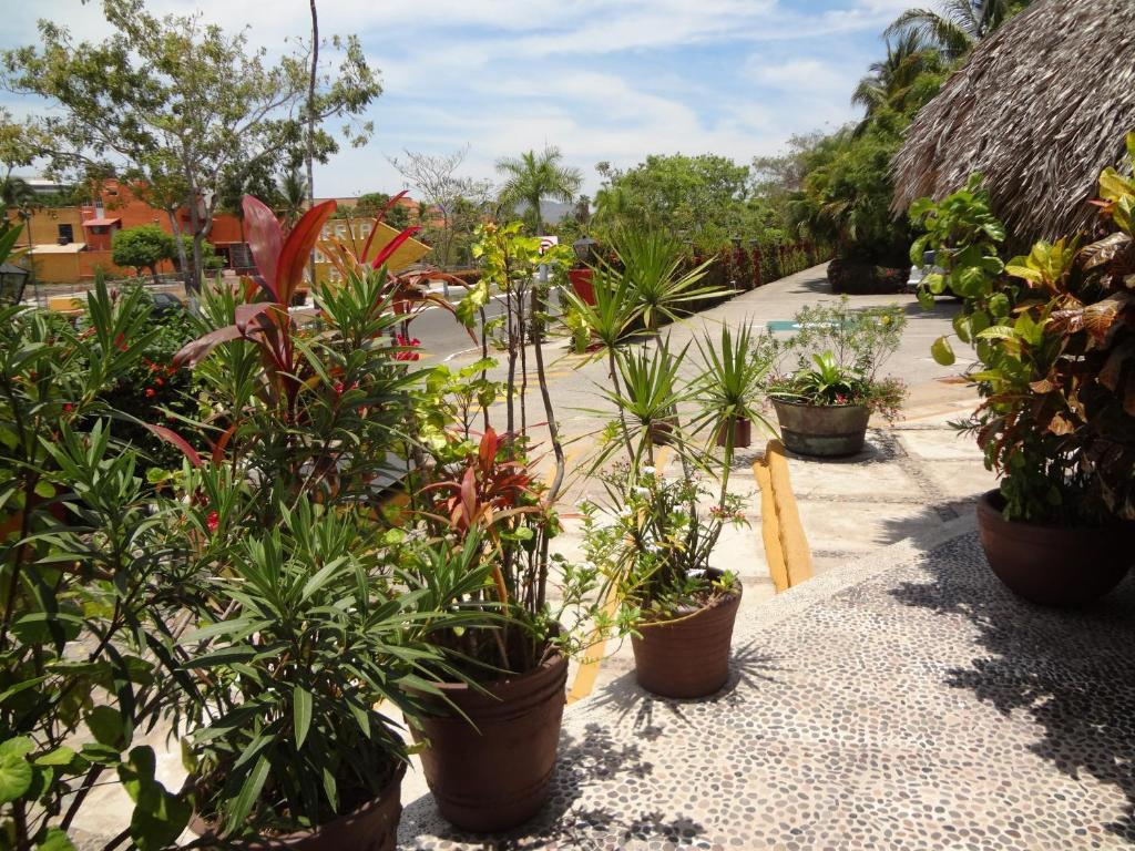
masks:
{"label": "grey-brown thatched palm roof at upper right", "polygon": [[918,113],[893,162],[893,210],[981,171],[1015,242],[1090,228],[1096,178],[1133,129],[1135,0],[1034,0]]}

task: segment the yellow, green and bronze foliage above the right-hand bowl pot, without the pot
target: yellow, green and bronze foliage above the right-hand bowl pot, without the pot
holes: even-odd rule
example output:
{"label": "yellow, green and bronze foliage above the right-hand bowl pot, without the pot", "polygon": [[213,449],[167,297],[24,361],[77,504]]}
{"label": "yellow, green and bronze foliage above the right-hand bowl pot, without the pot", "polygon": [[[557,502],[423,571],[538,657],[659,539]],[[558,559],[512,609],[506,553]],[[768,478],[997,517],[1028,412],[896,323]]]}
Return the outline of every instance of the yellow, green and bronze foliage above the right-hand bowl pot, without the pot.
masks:
{"label": "yellow, green and bronze foliage above the right-hand bowl pot, without the pot", "polygon": [[[1135,163],[1135,134],[1127,146]],[[981,366],[982,404],[964,423],[1001,477],[1009,520],[1092,523],[1135,517],[1135,183],[1100,176],[1102,237],[1039,242],[1007,263],[1003,228],[974,176],[913,209],[922,244],[945,258],[964,306],[955,321]],[[932,349],[952,363],[947,338]]]}

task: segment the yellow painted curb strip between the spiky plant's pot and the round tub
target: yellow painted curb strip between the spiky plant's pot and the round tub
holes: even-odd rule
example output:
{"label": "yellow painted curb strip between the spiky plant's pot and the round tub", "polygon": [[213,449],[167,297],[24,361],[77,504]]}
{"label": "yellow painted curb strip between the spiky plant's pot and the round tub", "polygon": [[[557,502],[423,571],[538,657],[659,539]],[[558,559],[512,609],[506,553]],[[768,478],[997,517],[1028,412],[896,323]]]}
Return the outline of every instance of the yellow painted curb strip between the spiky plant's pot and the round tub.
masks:
{"label": "yellow painted curb strip between the spiky plant's pot and the round tub", "polygon": [[784,445],[770,440],[764,458],[753,464],[753,472],[760,486],[760,531],[768,574],[780,592],[815,575],[812,549],[792,492]]}

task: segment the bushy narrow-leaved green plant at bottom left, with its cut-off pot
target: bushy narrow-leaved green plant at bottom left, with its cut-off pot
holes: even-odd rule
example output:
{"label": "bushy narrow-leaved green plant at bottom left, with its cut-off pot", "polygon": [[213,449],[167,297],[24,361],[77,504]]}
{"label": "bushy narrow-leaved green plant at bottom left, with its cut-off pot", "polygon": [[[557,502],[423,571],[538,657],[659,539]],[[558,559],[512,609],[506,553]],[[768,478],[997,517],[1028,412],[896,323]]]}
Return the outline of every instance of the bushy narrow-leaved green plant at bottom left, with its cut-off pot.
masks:
{"label": "bushy narrow-leaved green plant at bottom left, with its cut-off pot", "polygon": [[434,575],[455,584],[418,587],[363,512],[301,497],[257,529],[243,517],[262,495],[216,470],[190,483],[221,496],[197,522],[222,565],[183,640],[191,827],[228,846],[393,851],[407,751],[390,713],[413,723],[424,683],[461,676],[430,638],[484,624],[454,600],[485,568],[446,550],[457,563]]}

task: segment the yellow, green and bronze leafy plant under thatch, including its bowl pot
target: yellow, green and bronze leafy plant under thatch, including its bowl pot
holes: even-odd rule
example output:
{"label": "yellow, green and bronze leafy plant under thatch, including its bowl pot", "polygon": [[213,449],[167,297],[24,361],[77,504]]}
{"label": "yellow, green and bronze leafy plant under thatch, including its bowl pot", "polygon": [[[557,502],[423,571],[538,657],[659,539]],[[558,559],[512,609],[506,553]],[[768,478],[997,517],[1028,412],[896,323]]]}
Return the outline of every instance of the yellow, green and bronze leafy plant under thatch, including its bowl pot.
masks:
{"label": "yellow, green and bronze leafy plant under thatch, including its bowl pot", "polygon": [[[1135,135],[1128,150],[1135,161]],[[981,362],[970,378],[982,403],[965,427],[1000,478],[977,509],[985,555],[1010,590],[1050,606],[1096,599],[1135,561],[1135,310],[1126,284],[1135,183],[1108,169],[1100,193],[1105,236],[1083,247],[1079,238],[1040,242],[1008,264],[980,176],[911,208],[928,231],[911,255],[938,250],[942,268],[927,276],[926,298],[964,300],[955,330]],[[947,338],[932,353],[953,361]]]}

